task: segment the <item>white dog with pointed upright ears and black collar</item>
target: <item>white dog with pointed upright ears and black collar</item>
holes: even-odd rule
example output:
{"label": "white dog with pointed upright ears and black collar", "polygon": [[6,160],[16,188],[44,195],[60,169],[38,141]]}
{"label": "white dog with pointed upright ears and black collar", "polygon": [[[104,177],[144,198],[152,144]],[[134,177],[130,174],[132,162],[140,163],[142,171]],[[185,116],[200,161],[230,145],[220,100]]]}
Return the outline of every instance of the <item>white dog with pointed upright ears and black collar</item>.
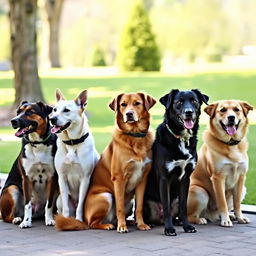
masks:
{"label": "white dog with pointed upright ears and black collar", "polygon": [[[99,159],[84,113],[87,90],[74,100],[66,100],[57,89],[56,100],[50,122],[51,132],[58,136],[55,157],[60,187],[58,213],[64,217],[75,216],[77,220],[83,221],[84,199]],[[55,220],[58,228],[58,218]]]}

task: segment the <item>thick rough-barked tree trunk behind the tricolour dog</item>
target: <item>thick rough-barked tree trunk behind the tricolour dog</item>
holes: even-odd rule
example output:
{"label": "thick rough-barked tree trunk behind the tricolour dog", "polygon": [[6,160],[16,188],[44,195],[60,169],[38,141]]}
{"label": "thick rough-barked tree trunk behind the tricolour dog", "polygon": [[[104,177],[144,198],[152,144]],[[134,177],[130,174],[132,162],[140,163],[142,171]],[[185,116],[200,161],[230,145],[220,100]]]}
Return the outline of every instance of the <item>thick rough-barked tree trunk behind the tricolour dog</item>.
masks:
{"label": "thick rough-barked tree trunk behind the tricolour dog", "polygon": [[9,0],[15,106],[43,100],[37,68],[37,0]]}

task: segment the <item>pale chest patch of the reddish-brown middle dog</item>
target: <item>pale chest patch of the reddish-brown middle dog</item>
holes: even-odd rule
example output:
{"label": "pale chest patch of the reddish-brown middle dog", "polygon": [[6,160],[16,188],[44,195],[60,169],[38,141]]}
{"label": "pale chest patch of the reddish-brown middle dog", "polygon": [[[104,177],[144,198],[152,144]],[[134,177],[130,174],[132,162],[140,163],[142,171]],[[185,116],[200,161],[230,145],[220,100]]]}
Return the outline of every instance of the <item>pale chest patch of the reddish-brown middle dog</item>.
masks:
{"label": "pale chest patch of the reddish-brown middle dog", "polygon": [[131,192],[136,188],[143,177],[146,165],[150,162],[151,160],[148,157],[141,161],[136,161],[134,159],[127,161],[126,169],[128,170],[128,182],[126,192]]}

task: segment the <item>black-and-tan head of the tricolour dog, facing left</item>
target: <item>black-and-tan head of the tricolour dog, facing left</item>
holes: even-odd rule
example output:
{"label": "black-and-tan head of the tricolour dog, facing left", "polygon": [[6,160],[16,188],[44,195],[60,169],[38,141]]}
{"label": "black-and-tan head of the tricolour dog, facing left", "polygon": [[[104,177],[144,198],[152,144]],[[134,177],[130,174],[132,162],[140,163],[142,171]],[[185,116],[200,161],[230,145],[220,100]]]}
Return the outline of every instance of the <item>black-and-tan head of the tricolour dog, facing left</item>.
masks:
{"label": "black-and-tan head of the tricolour dog, facing left", "polygon": [[39,136],[43,136],[48,126],[48,115],[51,112],[52,107],[42,102],[23,101],[17,109],[17,116],[11,120],[12,127],[18,129],[15,135],[23,137],[37,132]]}

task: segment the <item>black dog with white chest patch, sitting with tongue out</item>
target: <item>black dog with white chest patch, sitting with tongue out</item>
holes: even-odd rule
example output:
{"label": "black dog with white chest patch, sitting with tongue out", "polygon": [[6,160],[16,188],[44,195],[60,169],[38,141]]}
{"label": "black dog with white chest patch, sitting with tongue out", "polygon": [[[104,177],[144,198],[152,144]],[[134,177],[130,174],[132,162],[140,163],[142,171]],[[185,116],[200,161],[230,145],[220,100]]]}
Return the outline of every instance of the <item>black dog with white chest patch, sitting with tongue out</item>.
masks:
{"label": "black dog with white chest patch, sitting with tongue out", "polygon": [[[164,233],[176,236],[173,219],[178,217],[185,232],[196,229],[187,220],[189,178],[197,162],[197,131],[202,103],[209,97],[199,90],[172,90],[160,99],[164,121],[156,131],[153,165],[144,196],[144,219],[164,223]],[[177,206],[177,207],[176,207]]]}

